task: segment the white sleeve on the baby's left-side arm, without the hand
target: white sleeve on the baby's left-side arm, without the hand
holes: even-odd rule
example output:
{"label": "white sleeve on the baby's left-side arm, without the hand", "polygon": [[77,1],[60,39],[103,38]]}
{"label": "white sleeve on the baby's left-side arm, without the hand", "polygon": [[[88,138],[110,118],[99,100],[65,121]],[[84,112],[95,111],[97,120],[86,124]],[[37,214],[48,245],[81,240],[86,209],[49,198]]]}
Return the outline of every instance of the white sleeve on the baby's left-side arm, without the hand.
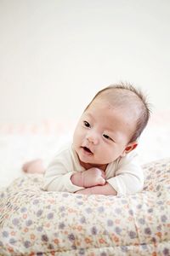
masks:
{"label": "white sleeve on the baby's left-side arm, without the hand", "polygon": [[68,168],[70,168],[70,170],[72,169],[71,160],[65,162],[65,156],[58,154],[44,174],[42,189],[47,191],[65,191],[72,193],[84,189],[71,183],[71,175],[75,173],[76,170],[70,171]]}

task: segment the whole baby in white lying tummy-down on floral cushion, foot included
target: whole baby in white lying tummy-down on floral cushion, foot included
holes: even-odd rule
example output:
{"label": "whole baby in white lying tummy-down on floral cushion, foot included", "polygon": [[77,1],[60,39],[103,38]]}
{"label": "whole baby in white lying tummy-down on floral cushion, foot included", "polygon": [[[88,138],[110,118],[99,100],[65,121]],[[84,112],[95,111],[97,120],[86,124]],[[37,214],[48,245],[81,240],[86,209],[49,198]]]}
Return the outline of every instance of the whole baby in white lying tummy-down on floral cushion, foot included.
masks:
{"label": "whole baby in white lying tummy-down on floral cushion, foot included", "polygon": [[[86,195],[130,195],[143,189],[134,148],[150,118],[149,104],[131,84],[114,84],[94,96],[82,113],[70,145],[44,174],[43,189]],[[41,160],[25,172],[44,172]]]}

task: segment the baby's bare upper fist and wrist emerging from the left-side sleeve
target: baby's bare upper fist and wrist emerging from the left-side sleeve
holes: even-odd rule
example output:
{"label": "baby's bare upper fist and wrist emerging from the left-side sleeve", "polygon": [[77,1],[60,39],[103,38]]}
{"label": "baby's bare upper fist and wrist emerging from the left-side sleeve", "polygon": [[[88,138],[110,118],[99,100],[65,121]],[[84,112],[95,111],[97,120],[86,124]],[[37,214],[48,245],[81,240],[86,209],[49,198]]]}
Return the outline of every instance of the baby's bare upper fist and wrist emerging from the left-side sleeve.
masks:
{"label": "baby's bare upper fist and wrist emerging from the left-side sleeve", "polygon": [[84,172],[74,173],[71,176],[71,182],[84,188],[105,185],[105,172],[93,167]]}

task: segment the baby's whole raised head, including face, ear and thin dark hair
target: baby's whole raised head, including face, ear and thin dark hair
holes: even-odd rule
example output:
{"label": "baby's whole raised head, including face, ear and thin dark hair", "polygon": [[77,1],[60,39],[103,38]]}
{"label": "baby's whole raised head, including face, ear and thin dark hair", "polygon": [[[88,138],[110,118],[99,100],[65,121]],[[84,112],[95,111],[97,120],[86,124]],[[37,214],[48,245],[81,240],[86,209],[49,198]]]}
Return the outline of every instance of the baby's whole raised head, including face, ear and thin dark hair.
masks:
{"label": "baby's whole raised head, including face, ear and thin dark hair", "polygon": [[74,132],[73,146],[82,166],[105,166],[136,148],[149,118],[149,104],[131,84],[99,90]]}

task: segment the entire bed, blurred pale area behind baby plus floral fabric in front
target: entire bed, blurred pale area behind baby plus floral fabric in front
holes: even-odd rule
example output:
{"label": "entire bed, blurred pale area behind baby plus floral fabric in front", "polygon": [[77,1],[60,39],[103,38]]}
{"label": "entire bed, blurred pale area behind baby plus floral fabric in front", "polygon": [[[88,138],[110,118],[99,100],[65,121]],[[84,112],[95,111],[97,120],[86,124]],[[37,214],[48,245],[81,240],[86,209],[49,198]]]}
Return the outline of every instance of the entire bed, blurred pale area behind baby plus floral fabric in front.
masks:
{"label": "entire bed, blurred pale area behind baby plus floral fabric in front", "polygon": [[0,255],[170,255],[167,115],[141,138],[146,178],[136,195],[45,192],[41,175],[21,173],[25,160],[48,164],[73,128],[68,121],[0,126]]}

